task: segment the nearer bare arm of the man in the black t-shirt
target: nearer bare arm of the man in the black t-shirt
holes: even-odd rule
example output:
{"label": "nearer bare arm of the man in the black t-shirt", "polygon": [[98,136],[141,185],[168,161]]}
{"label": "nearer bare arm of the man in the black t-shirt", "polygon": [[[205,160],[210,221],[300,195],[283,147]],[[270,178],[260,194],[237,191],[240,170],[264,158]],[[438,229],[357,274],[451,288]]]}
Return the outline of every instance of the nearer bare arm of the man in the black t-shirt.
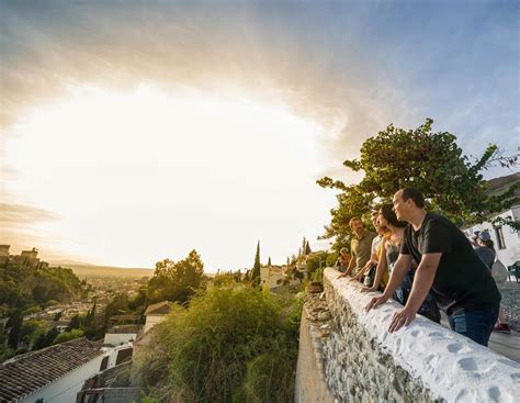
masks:
{"label": "nearer bare arm of the man in the black t-shirt", "polygon": [[407,326],[411,321],[415,320],[417,312],[419,311],[422,302],[431,289],[431,286],[433,284],[433,279],[436,277],[441,256],[442,254],[440,253],[422,255],[414,278],[414,284],[411,287],[408,301],[402,311],[394,314],[388,327],[388,332],[395,332],[403,325]]}

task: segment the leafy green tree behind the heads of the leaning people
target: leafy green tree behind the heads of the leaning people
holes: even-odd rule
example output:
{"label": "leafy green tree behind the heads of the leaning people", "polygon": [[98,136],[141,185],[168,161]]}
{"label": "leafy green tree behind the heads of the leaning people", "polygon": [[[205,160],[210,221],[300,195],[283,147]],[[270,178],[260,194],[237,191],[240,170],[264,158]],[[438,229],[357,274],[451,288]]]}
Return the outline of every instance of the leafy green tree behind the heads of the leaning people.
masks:
{"label": "leafy green tree behind the heads of the leaning people", "polygon": [[[494,160],[507,165],[516,164],[516,159],[500,159],[497,146],[489,145],[481,158],[471,163],[457,146],[456,137],[449,132],[433,133],[432,123],[427,119],[415,130],[389,125],[366,139],[360,159],[343,163],[347,168],[364,172],[360,183],[347,186],[328,177],[317,181],[320,187],[341,191],[324,238],[336,236],[336,247],[348,244],[349,220],[366,214],[377,203],[391,201],[404,187],[422,191],[429,210],[440,212],[457,225],[488,221],[519,201],[516,191],[520,186],[501,195],[491,195],[481,173]],[[509,221],[509,225],[517,227],[518,223]]]}

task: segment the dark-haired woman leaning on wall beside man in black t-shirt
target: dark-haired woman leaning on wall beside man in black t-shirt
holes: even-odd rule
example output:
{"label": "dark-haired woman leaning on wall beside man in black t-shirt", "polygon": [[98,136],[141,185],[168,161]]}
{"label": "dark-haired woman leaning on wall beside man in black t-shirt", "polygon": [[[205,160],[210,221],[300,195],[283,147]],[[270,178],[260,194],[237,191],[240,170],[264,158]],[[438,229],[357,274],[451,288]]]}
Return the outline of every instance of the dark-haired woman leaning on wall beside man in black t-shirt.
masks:
{"label": "dark-haired woman leaning on wall beside man in black t-shirt", "polygon": [[[384,270],[387,268],[388,273],[392,276],[392,270],[394,268],[397,258],[399,257],[400,245],[403,243],[406,222],[397,220],[395,215],[394,208],[392,204],[383,204],[380,210],[380,225],[385,226],[389,231],[382,242],[382,251],[381,258],[377,264],[377,269],[375,273],[374,283],[372,287],[366,287],[362,291],[376,291],[380,287],[380,282],[383,278]],[[403,305],[406,305],[408,301],[408,295],[411,292],[411,286],[414,284],[414,275],[416,267],[410,267],[408,272],[394,293],[394,300],[399,302]],[[441,316],[439,309],[433,300],[431,293],[428,293],[428,296],[425,299],[421,307],[419,309],[419,314],[428,317],[429,320],[440,323]]]}

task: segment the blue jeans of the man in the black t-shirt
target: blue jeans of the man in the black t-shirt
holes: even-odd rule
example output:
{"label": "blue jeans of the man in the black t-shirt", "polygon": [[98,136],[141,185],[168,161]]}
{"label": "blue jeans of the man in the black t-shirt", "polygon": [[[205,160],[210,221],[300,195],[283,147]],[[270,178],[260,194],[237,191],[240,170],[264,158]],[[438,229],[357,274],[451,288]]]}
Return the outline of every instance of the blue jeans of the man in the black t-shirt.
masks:
{"label": "blue jeans of the man in the black t-shirt", "polygon": [[479,310],[461,309],[448,316],[448,321],[453,332],[487,347],[487,342],[498,318],[498,310],[499,305]]}

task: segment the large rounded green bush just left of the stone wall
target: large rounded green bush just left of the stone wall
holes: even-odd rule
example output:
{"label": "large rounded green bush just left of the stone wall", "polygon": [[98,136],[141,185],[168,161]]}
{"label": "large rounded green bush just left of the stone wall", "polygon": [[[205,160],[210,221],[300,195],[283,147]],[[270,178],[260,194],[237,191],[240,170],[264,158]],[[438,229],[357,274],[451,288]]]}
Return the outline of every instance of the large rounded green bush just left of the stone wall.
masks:
{"label": "large rounded green bush just left of the stone wall", "polygon": [[158,326],[136,359],[140,382],[157,401],[292,401],[297,324],[289,311],[258,288],[212,288]]}

